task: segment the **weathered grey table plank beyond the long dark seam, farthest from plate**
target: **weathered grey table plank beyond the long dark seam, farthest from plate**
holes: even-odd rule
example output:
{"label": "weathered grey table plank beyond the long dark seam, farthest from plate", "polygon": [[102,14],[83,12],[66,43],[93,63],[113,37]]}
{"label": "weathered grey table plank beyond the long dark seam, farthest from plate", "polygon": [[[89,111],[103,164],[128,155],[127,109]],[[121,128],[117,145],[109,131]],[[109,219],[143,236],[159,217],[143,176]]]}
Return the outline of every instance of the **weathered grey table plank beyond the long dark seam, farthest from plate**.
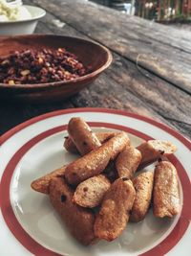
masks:
{"label": "weathered grey table plank beyond the long dark seam, farthest from plate", "polygon": [[83,0],[32,0],[32,3],[191,93],[191,35]]}

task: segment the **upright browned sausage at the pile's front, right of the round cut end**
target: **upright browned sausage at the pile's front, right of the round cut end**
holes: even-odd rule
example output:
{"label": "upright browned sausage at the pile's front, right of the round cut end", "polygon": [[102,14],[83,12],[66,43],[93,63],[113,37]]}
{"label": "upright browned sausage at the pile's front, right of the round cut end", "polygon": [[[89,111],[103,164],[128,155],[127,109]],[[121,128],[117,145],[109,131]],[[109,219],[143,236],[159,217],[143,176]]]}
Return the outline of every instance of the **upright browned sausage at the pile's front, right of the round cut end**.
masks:
{"label": "upright browned sausage at the pile's front, right of the round cut end", "polygon": [[115,240],[129,220],[136,191],[131,180],[118,178],[103,198],[95,221],[95,235],[107,241]]}

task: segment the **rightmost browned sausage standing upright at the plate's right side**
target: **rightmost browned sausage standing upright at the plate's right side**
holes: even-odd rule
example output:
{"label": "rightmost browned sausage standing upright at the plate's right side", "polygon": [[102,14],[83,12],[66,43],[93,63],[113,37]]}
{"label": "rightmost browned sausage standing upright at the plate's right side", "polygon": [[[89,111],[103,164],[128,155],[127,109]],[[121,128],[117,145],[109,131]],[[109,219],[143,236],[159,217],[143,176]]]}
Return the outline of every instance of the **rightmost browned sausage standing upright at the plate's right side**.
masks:
{"label": "rightmost browned sausage standing upright at the plate's right side", "polygon": [[173,217],[180,212],[177,170],[171,162],[160,161],[155,169],[153,213],[156,217]]}

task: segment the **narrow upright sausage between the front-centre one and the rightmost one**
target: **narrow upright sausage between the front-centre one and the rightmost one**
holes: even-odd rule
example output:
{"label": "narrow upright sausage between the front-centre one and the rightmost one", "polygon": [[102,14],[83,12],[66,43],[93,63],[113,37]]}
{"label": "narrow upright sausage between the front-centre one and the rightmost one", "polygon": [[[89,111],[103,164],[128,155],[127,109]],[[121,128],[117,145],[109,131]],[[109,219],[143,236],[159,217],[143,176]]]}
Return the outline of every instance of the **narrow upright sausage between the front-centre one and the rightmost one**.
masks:
{"label": "narrow upright sausage between the front-centre one and the rightmost one", "polygon": [[153,191],[154,174],[144,172],[133,179],[134,188],[136,189],[136,198],[131,211],[130,221],[142,221],[149,209]]}

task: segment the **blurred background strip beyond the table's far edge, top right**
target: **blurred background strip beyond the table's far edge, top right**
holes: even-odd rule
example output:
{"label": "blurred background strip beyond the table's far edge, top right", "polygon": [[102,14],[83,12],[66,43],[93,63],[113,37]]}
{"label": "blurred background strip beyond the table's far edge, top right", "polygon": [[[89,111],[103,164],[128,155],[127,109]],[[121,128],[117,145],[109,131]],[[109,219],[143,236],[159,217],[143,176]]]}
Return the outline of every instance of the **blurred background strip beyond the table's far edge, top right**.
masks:
{"label": "blurred background strip beyond the table's far edge, top right", "polygon": [[91,0],[120,12],[161,23],[191,24],[191,0]]}

